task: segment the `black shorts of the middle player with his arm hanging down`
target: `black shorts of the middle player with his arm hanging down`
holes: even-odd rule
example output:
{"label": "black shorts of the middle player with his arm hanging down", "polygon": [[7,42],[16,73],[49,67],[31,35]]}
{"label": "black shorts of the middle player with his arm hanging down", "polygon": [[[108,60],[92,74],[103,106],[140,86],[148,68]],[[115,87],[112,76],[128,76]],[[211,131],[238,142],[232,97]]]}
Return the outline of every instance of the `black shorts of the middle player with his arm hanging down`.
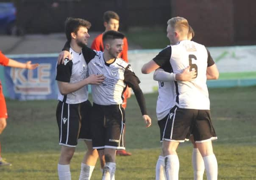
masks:
{"label": "black shorts of the middle player with his arm hanging down", "polygon": [[125,110],[122,105],[92,106],[92,147],[125,149]]}

